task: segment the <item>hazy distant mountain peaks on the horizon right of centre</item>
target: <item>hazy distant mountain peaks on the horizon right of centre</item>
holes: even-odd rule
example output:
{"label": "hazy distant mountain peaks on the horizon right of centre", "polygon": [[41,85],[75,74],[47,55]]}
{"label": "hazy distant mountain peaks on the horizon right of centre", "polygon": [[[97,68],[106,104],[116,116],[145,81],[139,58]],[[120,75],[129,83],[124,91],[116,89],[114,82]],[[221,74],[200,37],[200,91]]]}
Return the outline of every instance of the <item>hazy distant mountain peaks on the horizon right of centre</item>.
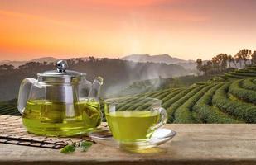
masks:
{"label": "hazy distant mountain peaks on the horizon right of centre", "polygon": [[121,58],[123,60],[133,62],[153,62],[153,63],[166,63],[166,64],[177,64],[177,63],[190,63],[192,60],[178,59],[171,57],[169,54],[149,55],[149,54],[132,54]]}

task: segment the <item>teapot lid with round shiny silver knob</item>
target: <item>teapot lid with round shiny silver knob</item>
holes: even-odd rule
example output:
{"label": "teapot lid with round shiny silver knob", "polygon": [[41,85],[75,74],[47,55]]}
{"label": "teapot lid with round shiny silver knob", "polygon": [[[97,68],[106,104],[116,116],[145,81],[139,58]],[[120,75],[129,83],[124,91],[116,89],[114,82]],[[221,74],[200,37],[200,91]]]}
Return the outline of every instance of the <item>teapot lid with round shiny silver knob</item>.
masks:
{"label": "teapot lid with round shiny silver knob", "polygon": [[85,78],[85,73],[66,70],[68,65],[64,60],[56,63],[56,70],[37,73],[39,82],[78,82],[81,78]]}

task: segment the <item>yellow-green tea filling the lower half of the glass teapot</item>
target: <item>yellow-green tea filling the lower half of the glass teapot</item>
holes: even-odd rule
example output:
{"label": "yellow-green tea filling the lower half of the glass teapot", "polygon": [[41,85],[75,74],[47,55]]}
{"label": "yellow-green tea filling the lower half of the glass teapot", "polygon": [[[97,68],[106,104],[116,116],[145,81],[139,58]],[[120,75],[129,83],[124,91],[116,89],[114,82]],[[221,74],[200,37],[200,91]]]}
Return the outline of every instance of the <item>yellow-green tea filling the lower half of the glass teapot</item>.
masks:
{"label": "yellow-green tea filling the lower half of the glass teapot", "polygon": [[27,130],[34,134],[70,136],[86,133],[100,125],[98,101],[75,103],[29,100],[22,115]]}

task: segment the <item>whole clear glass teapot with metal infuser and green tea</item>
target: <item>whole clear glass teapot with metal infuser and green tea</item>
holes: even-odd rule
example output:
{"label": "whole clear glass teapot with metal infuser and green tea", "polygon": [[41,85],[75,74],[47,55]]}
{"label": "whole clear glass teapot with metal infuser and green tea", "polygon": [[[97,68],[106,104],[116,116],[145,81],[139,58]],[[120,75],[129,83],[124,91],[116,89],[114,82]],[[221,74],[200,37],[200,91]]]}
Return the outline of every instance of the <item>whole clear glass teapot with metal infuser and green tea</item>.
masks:
{"label": "whole clear glass teapot with metal infuser and green tea", "polygon": [[17,108],[22,122],[34,134],[71,136],[84,134],[100,125],[99,90],[103,78],[91,83],[85,73],[66,70],[60,60],[57,69],[22,80]]}

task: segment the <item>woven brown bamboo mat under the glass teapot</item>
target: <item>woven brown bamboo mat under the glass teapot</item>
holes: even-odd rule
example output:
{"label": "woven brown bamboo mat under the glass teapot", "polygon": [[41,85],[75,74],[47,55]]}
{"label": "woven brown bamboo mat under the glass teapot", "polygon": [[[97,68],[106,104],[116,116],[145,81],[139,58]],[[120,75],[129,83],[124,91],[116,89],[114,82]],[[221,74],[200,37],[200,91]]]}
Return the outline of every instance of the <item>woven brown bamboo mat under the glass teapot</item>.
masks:
{"label": "woven brown bamboo mat under the glass teapot", "polygon": [[0,143],[59,149],[67,144],[79,143],[85,139],[92,141],[85,134],[71,138],[29,134],[22,125],[21,116],[0,115]]}

